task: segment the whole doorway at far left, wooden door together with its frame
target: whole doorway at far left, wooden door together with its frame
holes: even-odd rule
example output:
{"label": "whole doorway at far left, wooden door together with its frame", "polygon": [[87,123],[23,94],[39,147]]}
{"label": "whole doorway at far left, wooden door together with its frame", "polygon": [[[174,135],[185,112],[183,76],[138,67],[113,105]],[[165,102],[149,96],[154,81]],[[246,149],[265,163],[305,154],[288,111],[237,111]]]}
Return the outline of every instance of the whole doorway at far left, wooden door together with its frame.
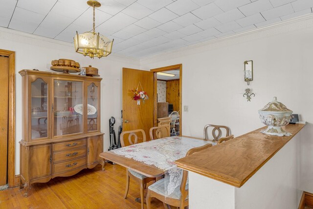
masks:
{"label": "whole doorway at far left, wooden door together with its frame", "polygon": [[[0,49],[0,186],[15,180],[15,52]],[[2,98],[3,97],[3,98]],[[5,97],[5,98],[4,98]]]}

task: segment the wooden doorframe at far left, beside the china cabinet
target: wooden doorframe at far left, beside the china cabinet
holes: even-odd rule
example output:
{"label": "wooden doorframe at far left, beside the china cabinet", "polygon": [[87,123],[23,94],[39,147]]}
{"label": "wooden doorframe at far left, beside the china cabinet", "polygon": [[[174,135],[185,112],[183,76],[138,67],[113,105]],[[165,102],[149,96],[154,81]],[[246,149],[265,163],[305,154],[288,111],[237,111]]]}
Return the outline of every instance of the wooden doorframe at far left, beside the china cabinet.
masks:
{"label": "wooden doorframe at far left, beside the china cabinet", "polygon": [[0,55],[9,57],[8,105],[8,169],[9,187],[15,186],[15,51],[0,49]]}

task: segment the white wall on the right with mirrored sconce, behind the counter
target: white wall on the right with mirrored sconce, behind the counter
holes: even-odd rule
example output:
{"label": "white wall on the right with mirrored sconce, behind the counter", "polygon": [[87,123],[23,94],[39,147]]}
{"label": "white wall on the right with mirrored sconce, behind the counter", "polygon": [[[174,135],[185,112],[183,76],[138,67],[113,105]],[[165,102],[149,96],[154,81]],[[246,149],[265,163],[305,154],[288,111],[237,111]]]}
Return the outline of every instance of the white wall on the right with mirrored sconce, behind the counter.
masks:
{"label": "white wall on the right with mirrored sconce, behind the counter", "polygon": [[[285,22],[286,23],[286,22]],[[313,16],[141,60],[145,70],[182,63],[182,134],[202,137],[205,124],[230,127],[239,136],[262,127],[258,110],[277,96],[302,120],[303,189],[313,192]],[[188,52],[188,53],[186,53]],[[253,81],[244,82],[244,61]],[[251,102],[246,88],[255,93]],[[300,118],[301,119],[301,118]]]}

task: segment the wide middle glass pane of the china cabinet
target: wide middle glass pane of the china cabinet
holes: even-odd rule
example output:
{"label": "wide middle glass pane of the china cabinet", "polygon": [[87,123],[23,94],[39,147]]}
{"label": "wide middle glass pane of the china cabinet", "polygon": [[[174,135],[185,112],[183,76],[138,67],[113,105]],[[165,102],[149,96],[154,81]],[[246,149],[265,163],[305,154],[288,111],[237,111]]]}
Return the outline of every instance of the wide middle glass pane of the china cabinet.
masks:
{"label": "wide middle glass pane of the china cabinet", "polygon": [[54,80],[54,136],[83,132],[83,82]]}

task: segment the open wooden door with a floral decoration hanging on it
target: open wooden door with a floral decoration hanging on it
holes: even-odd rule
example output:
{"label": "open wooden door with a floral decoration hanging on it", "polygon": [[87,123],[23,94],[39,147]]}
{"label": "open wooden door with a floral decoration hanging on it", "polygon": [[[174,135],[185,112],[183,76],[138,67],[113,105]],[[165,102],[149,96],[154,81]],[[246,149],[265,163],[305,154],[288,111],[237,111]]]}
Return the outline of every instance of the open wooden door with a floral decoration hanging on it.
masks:
{"label": "open wooden door with a floral decoration hanging on it", "polygon": [[[149,99],[140,101],[133,99],[132,90],[141,84]],[[141,90],[139,85],[139,89]],[[154,73],[145,70],[123,68],[123,131],[143,129],[147,140],[150,139],[149,129],[154,126]],[[138,141],[142,138],[139,136]]]}

